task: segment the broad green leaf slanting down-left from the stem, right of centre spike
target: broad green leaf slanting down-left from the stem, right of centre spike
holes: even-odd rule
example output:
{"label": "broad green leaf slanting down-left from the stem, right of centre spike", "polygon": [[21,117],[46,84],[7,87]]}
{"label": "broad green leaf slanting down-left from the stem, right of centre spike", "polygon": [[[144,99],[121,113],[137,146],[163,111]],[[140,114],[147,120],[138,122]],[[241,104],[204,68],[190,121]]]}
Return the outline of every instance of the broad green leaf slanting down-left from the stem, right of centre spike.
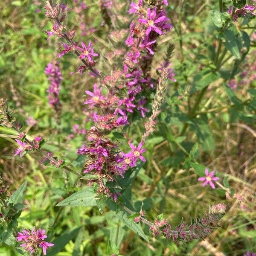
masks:
{"label": "broad green leaf slanting down-left from the stem, right of centre spike", "polygon": [[214,72],[209,68],[204,68],[193,77],[192,87],[190,94],[195,93],[198,90],[202,90],[210,83],[216,81],[220,77],[220,73]]}

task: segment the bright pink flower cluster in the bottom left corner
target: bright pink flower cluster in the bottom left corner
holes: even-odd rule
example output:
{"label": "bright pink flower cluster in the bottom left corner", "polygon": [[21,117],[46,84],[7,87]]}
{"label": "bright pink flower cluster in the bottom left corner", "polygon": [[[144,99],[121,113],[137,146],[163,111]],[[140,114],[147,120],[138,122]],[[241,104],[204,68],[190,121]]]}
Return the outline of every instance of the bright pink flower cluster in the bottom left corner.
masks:
{"label": "bright pink flower cluster in the bottom left corner", "polygon": [[54,244],[44,241],[47,238],[45,230],[35,230],[35,227],[29,230],[22,230],[18,232],[16,239],[18,242],[23,242],[21,247],[24,247],[26,251],[29,251],[31,254],[38,251],[39,248],[43,248],[43,253],[46,255],[46,250],[48,247],[54,246]]}

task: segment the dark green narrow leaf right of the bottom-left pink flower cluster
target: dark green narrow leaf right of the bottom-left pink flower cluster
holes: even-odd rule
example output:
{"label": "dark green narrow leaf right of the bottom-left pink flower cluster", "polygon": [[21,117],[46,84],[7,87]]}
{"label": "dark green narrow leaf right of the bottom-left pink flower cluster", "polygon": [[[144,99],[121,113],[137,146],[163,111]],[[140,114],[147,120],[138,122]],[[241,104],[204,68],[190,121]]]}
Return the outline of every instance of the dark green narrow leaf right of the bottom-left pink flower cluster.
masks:
{"label": "dark green narrow leaf right of the bottom-left pink flower cluster", "polygon": [[59,236],[56,239],[54,239],[52,241],[52,244],[54,244],[54,246],[50,247],[46,255],[54,256],[58,252],[60,252],[64,248],[64,246],[77,235],[80,228],[81,227],[77,227],[76,229],[73,229],[70,232],[66,232],[62,236]]}

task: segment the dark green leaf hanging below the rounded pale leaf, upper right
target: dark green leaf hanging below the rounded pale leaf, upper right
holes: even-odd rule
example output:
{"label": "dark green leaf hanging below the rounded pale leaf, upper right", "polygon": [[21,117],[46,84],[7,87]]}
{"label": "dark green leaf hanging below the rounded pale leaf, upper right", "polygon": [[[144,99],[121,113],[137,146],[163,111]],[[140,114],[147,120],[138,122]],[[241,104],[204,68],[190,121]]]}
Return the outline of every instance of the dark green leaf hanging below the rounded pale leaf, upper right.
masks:
{"label": "dark green leaf hanging below the rounded pale leaf, upper right", "polygon": [[230,29],[226,29],[224,30],[224,32],[222,33],[225,42],[224,42],[224,46],[227,48],[228,51],[231,52],[231,54],[237,58],[240,59],[241,55],[240,55],[240,51],[239,51],[239,33],[236,30],[236,28],[230,28]]}

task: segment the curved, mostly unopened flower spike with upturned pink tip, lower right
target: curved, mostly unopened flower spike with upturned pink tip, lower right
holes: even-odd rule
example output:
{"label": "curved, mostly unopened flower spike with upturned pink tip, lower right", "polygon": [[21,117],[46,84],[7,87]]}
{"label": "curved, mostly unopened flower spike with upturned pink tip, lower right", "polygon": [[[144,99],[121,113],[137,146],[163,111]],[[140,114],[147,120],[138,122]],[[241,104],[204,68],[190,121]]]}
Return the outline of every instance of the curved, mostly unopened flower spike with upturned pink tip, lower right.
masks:
{"label": "curved, mostly unopened flower spike with upturned pink tip, lower right", "polygon": [[166,239],[172,237],[175,242],[179,240],[188,242],[192,239],[203,239],[211,232],[212,227],[218,223],[225,210],[225,204],[215,204],[209,208],[209,212],[203,218],[196,218],[190,226],[182,222],[179,226],[175,227],[175,230],[172,230],[171,225],[166,219],[159,215],[154,225],[151,225],[149,229],[154,236],[162,233]]}

